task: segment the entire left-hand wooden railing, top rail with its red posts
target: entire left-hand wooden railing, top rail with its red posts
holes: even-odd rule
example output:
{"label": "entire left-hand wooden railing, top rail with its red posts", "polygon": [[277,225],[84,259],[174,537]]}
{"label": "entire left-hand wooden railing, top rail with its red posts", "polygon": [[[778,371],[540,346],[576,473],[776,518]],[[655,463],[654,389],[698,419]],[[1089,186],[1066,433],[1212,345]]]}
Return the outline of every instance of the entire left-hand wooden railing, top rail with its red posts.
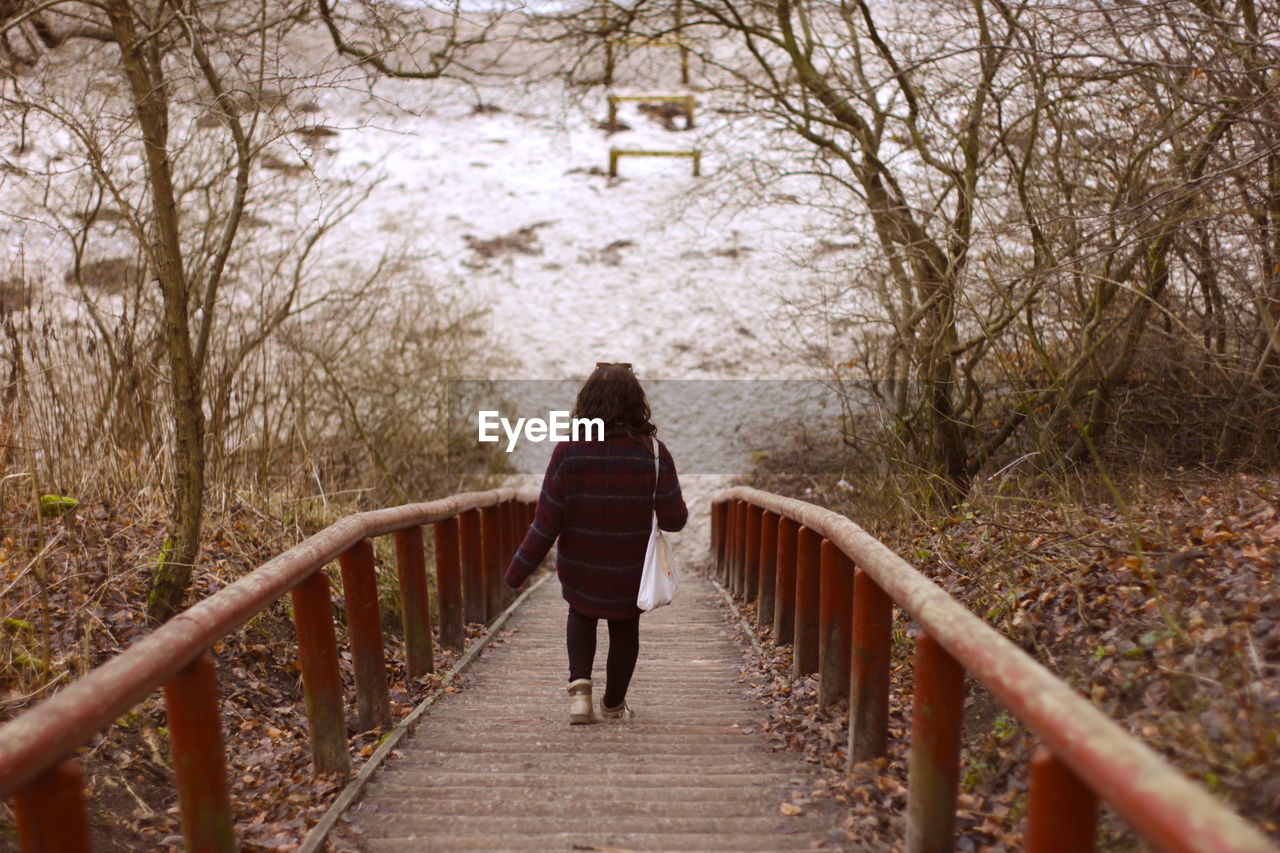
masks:
{"label": "entire left-hand wooden railing, top rail with its red posts", "polygon": [[[209,726],[210,720],[219,720],[220,711],[216,676],[207,649],[291,593],[311,726],[312,761],[319,771],[346,772],[347,733],[333,608],[328,579],[320,570],[334,560],[343,562],[343,575],[348,580],[348,622],[353,625],[352,651],[357,662],[357,704],[362,722],[378,725],[388,719],[387,710],[381,707],[387,702],[387,685],[385,666],[378,660],[381,635],[376,620],[376,584],[370,583],[372,555],[369,539],[398,534],[397,555],[404,564],[401,566],[401,592],[406,598],[406,635],[413,638],[412,666],[424,669],[430,666],[431,654],[429,646],[422,648],[424,638],[430,643],[430,624],[419,624],[430,619],[425,579],[416,576],[425,574],[421,528],[426,524],[456,526],[453,520],[458,516],[480,516],[479,523],[488,532],[488,565],[466,579],[466,607],[458,598],[457,587],[451,590],[451,612],[445,613],[442,599],[442,621],[461,622],[463,608],[488,620],[497,615],[495,606],[500,610],[502,564],[518,547],[518,537],[532,520],[536,498],[536,492],[494,489],[349,515],[178,613],[50,699],[0,726],[0,798],[14,797],[22,848],[88,849],[87,822],[68,820],[67,816],[59,820],[59,815],[51,811],[65,808],[55,803],[83,802],[82,794],[73,790],[82,784],[81,775],[73,762],[65,760],[120,715],[165,688],[187,847],[237,849],[234,834],[229,831],[230,809],[220,726],[212,726],[212,731]],[[452,542],[458,547],[456,535],[444,534],[438,542]],[[461,560],[468,560],[468,555],[462,548]],[[454,584],[458,583],[458,558],[460,555],[445,555],[451,583]],[[447,640],[461,639],[457,625],[451,625],[442,634]],[[184,722],[188,720],[189,726]],[[184,726],[202,731],[205,739],[192,738],[192,731]],[[212,744],[205,742],[209,738],[212,738]],[[191,754],[179,754],[183,744],[191,745]],[[68,829],[72,825],[73,829]],[[49,848],[51,838],[56,838],[56,843]]]}

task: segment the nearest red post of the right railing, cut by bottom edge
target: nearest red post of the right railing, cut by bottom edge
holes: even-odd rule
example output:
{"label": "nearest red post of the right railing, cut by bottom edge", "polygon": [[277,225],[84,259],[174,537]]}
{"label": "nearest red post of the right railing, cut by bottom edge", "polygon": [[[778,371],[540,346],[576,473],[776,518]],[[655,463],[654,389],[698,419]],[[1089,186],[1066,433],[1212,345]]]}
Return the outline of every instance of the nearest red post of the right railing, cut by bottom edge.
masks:
{"label": "nearest red post of the right railing, cut by bottom edge", "polygon": [[1044,747],[1030,761],[1028,853],[1091,853],[1097,849],[1098,797]]}

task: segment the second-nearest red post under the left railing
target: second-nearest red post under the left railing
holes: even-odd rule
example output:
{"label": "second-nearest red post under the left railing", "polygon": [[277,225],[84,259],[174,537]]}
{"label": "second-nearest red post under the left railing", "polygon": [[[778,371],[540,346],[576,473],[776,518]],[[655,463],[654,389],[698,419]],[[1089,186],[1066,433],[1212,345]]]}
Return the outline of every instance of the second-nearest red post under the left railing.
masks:
{"label": "second-nearest red post under the left railing", "polygon": [[202,652],[164,685],[165,716],[187,853],[236,853],[214,658]]}

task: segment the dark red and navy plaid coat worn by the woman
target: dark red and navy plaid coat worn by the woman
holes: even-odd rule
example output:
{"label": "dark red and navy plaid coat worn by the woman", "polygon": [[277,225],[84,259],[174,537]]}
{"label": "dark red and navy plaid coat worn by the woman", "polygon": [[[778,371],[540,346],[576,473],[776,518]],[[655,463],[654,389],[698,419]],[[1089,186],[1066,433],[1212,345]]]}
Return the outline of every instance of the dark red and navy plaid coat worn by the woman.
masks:
{"label": "dark red and navy plaid coat worn by the woman", "polygon": [[637,616],[636,593],[654,508],[663,530],[680,530],[689,519],[676,462],[666,444],[658,442],[658,447],[654,503],[653,450],[646,441],[623,434],[558,443],[543,478],[534,524],[507,566],[507,584],[522,584],[558,538],[556,571],[573,610],[596,619]]}

